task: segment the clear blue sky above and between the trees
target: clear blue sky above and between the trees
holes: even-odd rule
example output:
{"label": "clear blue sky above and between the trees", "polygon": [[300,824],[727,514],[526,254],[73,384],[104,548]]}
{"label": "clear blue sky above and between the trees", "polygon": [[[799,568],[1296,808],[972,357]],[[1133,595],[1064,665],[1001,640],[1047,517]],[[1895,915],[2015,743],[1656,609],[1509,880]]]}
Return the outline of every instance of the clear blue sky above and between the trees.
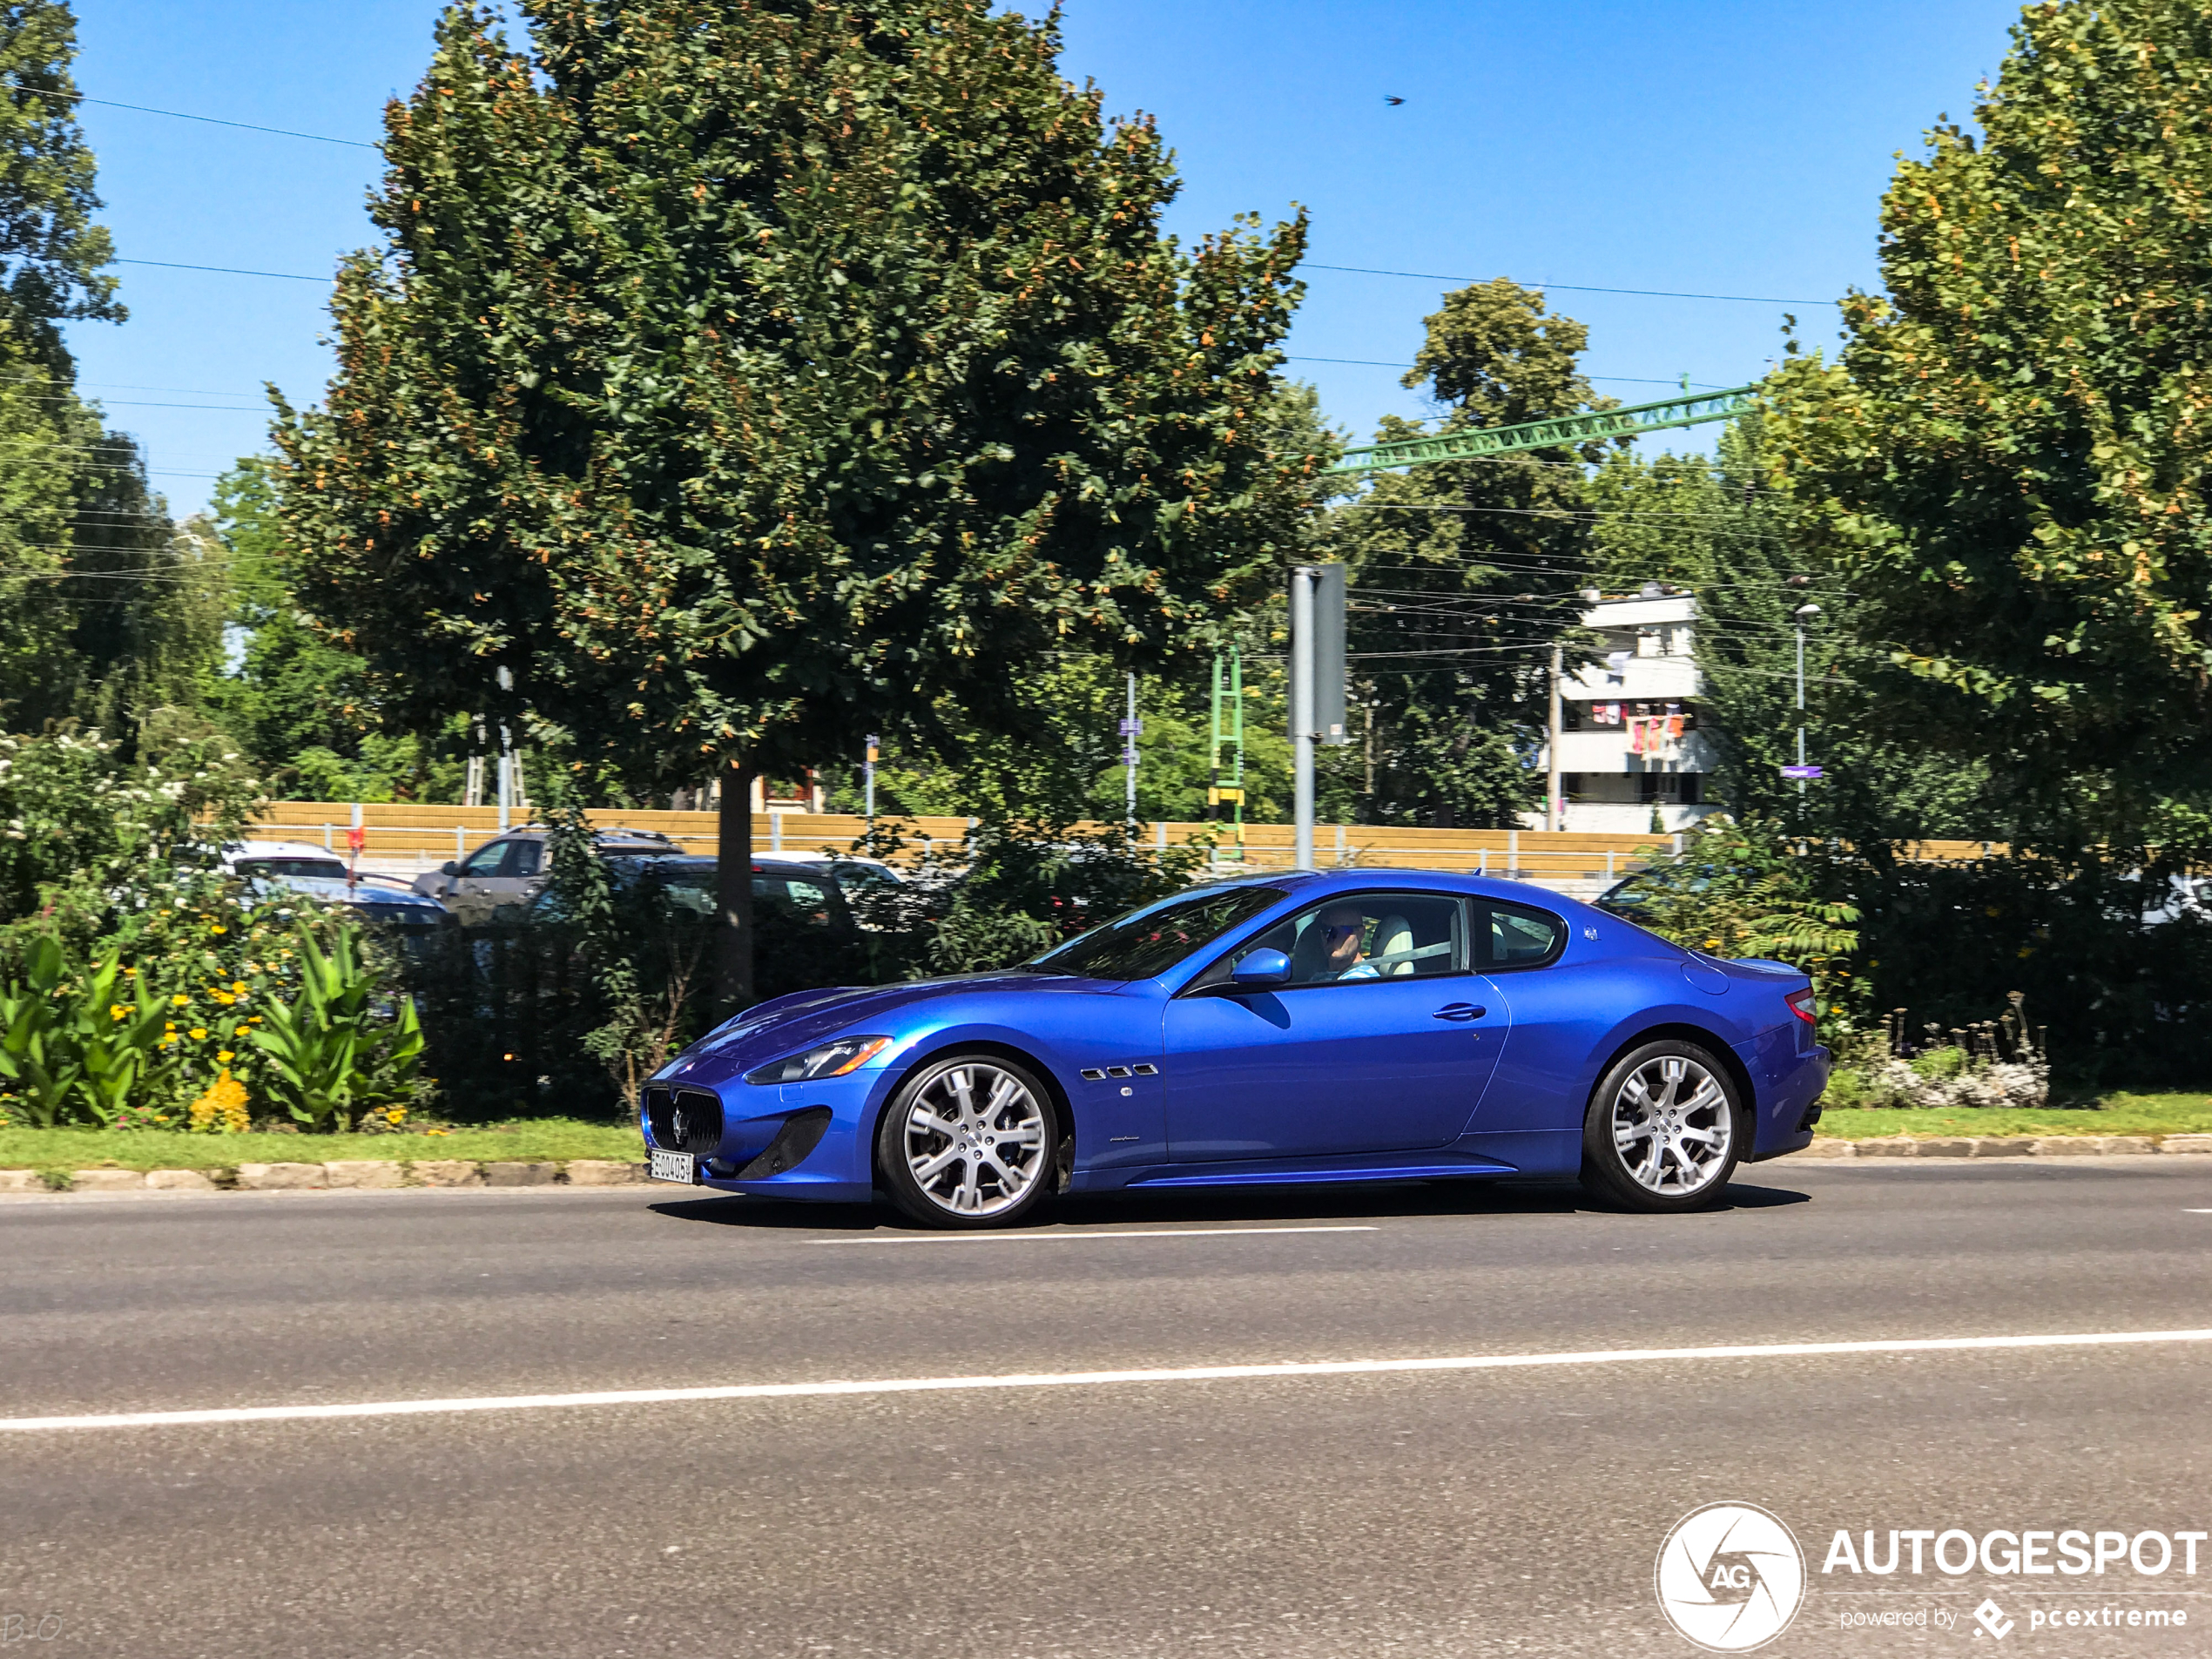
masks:
{"label": "clear blue sky above and between the trees", "polygon": [[[429,58],[434,0],[80,0],[88,97],[374,142]],[[1551,283],[1624,400],[1741,385],[1825,305],[1568,292],[1834,299],[1876,276],[1896,150],[1964,117],[2015,4],[1566,4],[1502,0],[1068,0],[1071,77],[1148,111],[1197,237],[1237,212],[1312,212],[1312,259]],[[1389,106],[1385,97],[1402,97]],[[117,254],[323,276],[367,241],[378,157],[86,106]],[[177,511],[263,442],[261,385],[321,396],[327,285],[119,265],[131,321],[77,325],[84,389],[146,440]],[[1290,349],[1329,418],[1429,414],[1398,385],[1447,283],[1312,270]],[[1323,363],[1310,358],[1363,358]],[[1666,383],[1666,385],[1659,385]],[[184,405],[184,407],[179,407]],[[1710,431],[1710,429],[1708,429]],[[1697,447],[1701,434],[1646,442]]]}

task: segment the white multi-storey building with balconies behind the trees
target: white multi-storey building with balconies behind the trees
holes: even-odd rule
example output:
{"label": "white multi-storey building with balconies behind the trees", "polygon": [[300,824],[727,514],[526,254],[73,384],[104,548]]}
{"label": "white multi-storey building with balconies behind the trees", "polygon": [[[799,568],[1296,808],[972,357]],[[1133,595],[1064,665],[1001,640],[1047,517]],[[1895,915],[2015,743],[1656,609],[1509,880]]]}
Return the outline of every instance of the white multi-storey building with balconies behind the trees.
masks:
{"label": "white multi-storey building with balconies behind the trees", "polygon": [[[1597,661],[1559,684],[1562,827],[1632,834],[1657,812],[1661,830],[1686,830],[1717,810],[1705,796],[1717,752],[1701,730],[1697,599],[1652,582],[1597,599],[1582,626],[1604,644]],[[1540,752],[1537,765],[1548,757]]]}

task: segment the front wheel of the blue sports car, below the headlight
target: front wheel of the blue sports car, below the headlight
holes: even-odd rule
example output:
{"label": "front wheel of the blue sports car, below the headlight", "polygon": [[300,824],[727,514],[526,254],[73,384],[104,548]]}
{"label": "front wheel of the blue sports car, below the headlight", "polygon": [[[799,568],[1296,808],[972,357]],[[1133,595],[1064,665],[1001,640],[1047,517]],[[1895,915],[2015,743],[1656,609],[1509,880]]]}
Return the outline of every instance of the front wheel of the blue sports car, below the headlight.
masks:
{"label": "front wheel of the blue sports car, below the headlight", "polygon": [[929,1228],[1011,1228],[1053,1188],[1053,1097],[1002,1055],[951,1055],[914,1073],[876,1130],[883,1183]]}

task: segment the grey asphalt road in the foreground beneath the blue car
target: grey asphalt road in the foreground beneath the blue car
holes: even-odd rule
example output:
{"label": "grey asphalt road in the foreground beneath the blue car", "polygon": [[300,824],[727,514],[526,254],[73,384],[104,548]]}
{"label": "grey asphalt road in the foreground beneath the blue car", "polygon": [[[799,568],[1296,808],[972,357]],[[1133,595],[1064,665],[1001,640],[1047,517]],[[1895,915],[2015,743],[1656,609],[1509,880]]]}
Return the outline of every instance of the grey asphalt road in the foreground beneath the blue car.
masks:
{"label": "grey asphalt road in the foreground beneath the blue car", "polygon": [[[2212,1159],[1767,1164],[1732,1199],[1181,1194],[989,1241],[661,1190],[29,1199],[0,1203],[0,1418],[2212,1327]],[[2212,1548],[2197,1579],[2033,1593],[1818,1568],[1836,1528],[2212,1526],[2208,1367],[2152,1343],[4,1431],[0,1655],[1681,1657],[1652,1562],[1717,1500],[1809,1555],[1772,1655],[1993,1652],[1984,1595],[2004,1650],[2205,1655]],[[2068,1606],[2192,1626],[2028,1628]]]}

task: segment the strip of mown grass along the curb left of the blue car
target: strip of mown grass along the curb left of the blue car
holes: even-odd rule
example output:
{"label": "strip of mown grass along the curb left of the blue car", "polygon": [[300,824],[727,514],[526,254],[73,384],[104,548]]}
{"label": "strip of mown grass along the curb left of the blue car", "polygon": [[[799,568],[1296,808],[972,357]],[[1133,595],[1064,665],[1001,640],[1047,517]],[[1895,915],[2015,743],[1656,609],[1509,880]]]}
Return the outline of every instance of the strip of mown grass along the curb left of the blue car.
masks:
{"label": "strip of mown grass along the curb left of the blue car", "polygon": [[445,1135],[170,1135],[164,1130],[0,1128],[0,1170],[219,1170],[237,1164],[338,1164],[349,1159],[460,1157],[566,1164],[606,1157],[641,1164],[635,1124],[538,1117]]}

